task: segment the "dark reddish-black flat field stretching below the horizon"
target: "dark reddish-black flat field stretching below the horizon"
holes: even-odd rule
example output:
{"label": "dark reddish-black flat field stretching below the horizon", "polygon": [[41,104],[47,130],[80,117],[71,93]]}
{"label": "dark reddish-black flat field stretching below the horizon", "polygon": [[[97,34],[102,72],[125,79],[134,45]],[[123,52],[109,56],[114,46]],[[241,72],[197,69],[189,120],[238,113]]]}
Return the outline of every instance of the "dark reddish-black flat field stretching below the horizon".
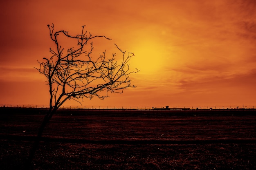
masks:
{"label": "dark reddish-black flat field stretching below the horizon", "polygon": [[[22,169],[45,109],[0,108],[0,169]],[[256,110],[59,110],[36,170],[255,170]]]}

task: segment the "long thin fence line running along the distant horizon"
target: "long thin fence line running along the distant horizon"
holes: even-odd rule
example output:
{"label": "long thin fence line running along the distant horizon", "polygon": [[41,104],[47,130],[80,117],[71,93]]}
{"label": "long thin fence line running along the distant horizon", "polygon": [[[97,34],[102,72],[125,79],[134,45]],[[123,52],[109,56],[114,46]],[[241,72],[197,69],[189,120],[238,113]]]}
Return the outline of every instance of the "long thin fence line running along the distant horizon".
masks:
{"label": "long thin fence line running along the distant horizon", "polygon": [[[28,104],[0,104],[0,107],[17,107],[17,108],[49,108],[46,105],[28,105]],[[132,107],[132,106],[61,106],[63,109],[102,109],[102,110],[156,110],[156,111],[166,111],[166,110],[229,110],[229,109],[256,109],[254,106],[170,106],[170,107]]]}

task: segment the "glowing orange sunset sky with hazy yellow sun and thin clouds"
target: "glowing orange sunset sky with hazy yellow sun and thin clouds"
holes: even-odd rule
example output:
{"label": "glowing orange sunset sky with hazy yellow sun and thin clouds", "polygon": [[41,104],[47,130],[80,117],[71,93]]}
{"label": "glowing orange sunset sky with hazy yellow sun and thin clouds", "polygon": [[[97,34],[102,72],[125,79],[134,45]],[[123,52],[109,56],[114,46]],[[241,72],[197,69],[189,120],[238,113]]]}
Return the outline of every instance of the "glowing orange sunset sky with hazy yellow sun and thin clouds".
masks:
{"label": "glowing orange sunset sky with hazy yellow sun and thin clouds", "polygon": [[[56,30],[105,35],[99,47],[133,52],[136,88],[84,107],[256,106],[255,0],[11,0],[0,2],[0,104],[49,105],[34,68]],[[98,55],[98,53],[97,53]],[[80,106],[67,101],[65,106]]]}

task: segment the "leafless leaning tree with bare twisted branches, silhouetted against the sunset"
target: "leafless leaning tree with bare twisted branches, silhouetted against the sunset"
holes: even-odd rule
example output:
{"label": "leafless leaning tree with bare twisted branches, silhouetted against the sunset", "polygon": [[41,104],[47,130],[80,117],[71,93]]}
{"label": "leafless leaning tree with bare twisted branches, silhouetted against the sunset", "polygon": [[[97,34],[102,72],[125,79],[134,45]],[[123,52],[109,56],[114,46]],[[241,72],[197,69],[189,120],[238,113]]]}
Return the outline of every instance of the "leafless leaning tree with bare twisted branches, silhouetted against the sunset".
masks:
{"label": "leafless leaning tree with bare twisted branches, silhouetted against the sunset", "polygon": [[[81,34],[75,36],[64,30],[54,31],[54,24],[47,26],[56,48],[50,48],[52,56],[44,57],[44,61],[39,62],[40,67],[36,69],[47,78],[50,93],[49,111],[39,128],[28,164],[34,158],[46,124],[67,99],[81,104],[79,99],[83,101],[83,98],[92,99],[93,96],[104,99],[108,97],[109,92],[122,93],[125,88],[135,87],[131,84],[129,75],[139,71],[137,69],[130,71],[129,61],[134,54],[122,51],[116,44],[121,56],[114,53],[108,57],[106,50],[97,57],[92,55],[94,49],[92,40],[96,38],[110,40],[106,36],[92,35],[85,31],[85,26],[82,26]],[[75,47],[65,48],[60,44],[60,36],[69,39],[69,42],[75,40],[77,44],[72,44]]]}

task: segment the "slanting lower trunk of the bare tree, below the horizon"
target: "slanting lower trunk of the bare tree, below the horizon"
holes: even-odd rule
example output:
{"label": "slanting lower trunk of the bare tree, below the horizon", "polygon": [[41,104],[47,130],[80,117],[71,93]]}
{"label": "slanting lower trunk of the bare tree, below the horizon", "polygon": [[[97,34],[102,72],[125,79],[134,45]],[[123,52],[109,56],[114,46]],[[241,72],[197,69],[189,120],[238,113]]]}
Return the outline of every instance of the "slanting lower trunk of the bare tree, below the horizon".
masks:
{"label": "slanting lower trunk of the bare tree, below the horizon", "polygon": [[47,123],[49,122],[49,120],[51,119],[52,116],[49,116],[49,115],[52,115],[53,113],[50,113],[50,114],[47,114],[45,115],[44,119],[43,119],[43,122],[38,130],[38,134],[36,136],[36,139],[34,141],[34,144],[29,152],[29,156],[25,162],[25,166],[24,166],[24,170],[30,170],[32,168],[32,161],[35,157],[35,154],[36,154],[36,150],[38,149],[38,146],[39,146],[39,143],[40,143],[40,140],[41,140],[41,137],[43,135],[43,130],[45,129],[45,126],[47,125]]}

